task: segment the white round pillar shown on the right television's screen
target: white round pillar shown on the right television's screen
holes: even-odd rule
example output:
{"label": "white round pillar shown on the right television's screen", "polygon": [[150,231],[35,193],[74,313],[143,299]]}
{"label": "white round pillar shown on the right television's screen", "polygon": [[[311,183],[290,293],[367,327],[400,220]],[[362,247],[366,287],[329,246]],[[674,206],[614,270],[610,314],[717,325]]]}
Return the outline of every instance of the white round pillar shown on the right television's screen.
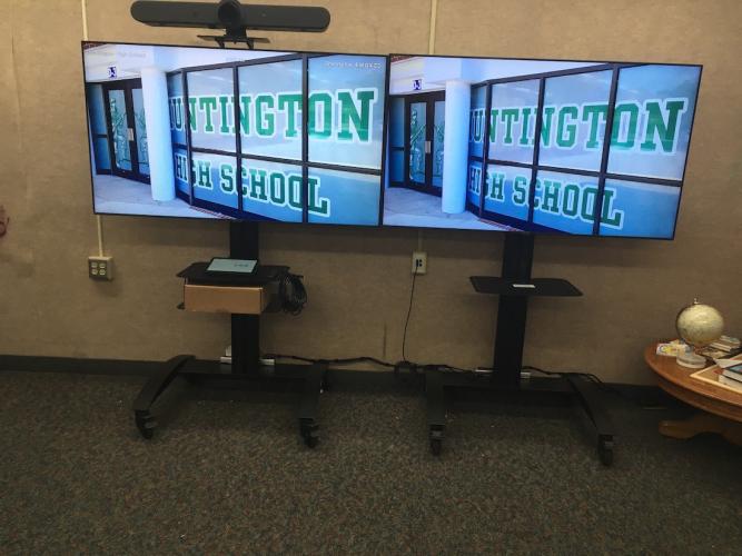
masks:
{"label": "white round pillar shown on the right television's screen", "polygon": [[444,212],[456,215],[466,208],[468,125],[472,88],[462,80],[446,81],[446,111],[443,135]]}

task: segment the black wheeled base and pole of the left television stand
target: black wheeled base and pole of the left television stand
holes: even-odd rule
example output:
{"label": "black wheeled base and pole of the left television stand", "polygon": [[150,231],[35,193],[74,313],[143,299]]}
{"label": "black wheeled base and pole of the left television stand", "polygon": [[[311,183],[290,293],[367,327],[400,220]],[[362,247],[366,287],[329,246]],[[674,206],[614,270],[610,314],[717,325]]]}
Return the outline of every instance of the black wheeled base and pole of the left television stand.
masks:
{"label": "black wheeled base and pole of the left television stand", "polygon": [[[229,224],[229,256],[235,259],[258,259],[258,224]],[[228,284],[225,284],[228,286]],[[157,423],[152,406],[170,384],[182,378],[197,386],[216,380],[230,387],[259,391],[294,391],[299,394],[298,424],[304,443],[314,448],[319,443],[317,410],[319,394],[326,386],[327,365],[260,365],[260,316],[231,315],[231,366],[218,361],[197,360],[179,355],[165,361],[133,403],[137,429],[151,438]]]}

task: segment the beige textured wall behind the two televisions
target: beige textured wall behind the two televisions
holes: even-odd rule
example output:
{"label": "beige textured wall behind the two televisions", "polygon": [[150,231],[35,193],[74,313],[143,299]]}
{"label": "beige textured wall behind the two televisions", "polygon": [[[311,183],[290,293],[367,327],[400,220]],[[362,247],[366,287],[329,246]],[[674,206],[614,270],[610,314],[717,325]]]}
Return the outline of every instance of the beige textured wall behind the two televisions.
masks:
{"label": "beige textured wall behind the two televisions", "polygon": [[[332,11],[328,31],[274,33],[273,48],[427,51],[429,0],[313,3]],[[129,4],[89,0],[90,39],[198,43],[195,30],[136,23]],[[0,353],[216,358],[228,318],[176,310],[175,274],[225,254],[226,224],[107,217],[117,278],[89,280],[86,258],[97,239],[80,2],[13,0],[2,11],[0,205],[11,226],[0,238]],[[531,304],[525,363],[651,381],[642,348],[672,336],[677,309],[694,296],[742,334],[741,21],[736,0],[439,0],[436,53],[704,64],[676,240],[537,238],[534,276],[567,278],[585,295]],[[290,265],[309,290],[301,316],[265,318],[264,349],[400,357],[416,231],[268,225],[261,234],[261,259]],[[498,272],[502,236],[425,231],[423,241],[429,274],[418,279],[408,356],[486,364],[496,298],[475,295],[467,277]]]}

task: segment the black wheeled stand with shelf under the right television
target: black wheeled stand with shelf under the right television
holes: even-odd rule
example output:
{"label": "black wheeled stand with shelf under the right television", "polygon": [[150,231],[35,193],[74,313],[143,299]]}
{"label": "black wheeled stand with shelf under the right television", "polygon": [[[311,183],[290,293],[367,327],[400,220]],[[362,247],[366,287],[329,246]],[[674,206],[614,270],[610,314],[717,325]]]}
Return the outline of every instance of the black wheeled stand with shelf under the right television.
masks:
{"label": "black wheeled stand with shelf under the right television", "polygon": [[499,296],[493,370],[483,376],[427,370],[425,390],[431,451],[441,454],[451,398],[485,398],[487,401],[561,401],[578,404],[595,435],[597,455],[613,463],[613,425],[602,405],[598,386],[581,375],[523,378],[523,345],[530,297],[577,297],[582,292],[560,278],[531,278],[534,237],[507,234],[503,250],[502,277],[472,276],[478,294]]}

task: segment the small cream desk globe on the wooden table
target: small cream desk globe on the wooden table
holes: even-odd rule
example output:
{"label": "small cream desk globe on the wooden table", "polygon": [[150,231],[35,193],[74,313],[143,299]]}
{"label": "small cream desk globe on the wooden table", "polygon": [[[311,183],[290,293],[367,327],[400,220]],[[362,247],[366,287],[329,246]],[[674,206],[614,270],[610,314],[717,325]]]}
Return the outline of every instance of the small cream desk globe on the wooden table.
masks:
{"label": "small cream desk globe on the wooden table", "polygon": [[[724,319],[716,309],[694,299],[692,305],[684,307],[677,314],[675,328],[683,341],[700,349],[721,337],[724,331]],[[693,369],[702,369],[706,365],[705,357],[698,355],[695,350],[680,354],[676,360],[677,365]]]}

